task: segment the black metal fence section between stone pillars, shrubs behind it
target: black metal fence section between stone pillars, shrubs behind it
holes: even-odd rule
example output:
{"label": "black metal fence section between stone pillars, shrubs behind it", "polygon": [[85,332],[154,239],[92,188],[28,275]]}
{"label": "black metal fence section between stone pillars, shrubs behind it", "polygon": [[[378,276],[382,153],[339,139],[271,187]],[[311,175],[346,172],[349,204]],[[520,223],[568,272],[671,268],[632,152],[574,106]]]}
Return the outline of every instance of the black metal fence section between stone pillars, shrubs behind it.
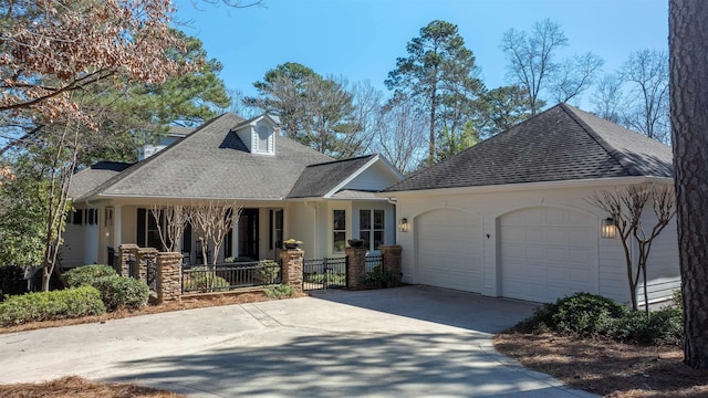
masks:
{"label": "black metal fence section between stone pillars, shrubs behind it", "polygon": [[183,265],[181,291],[223,292],[239,287],[267,286],[282,280],[282,264],[263,260],[216,265]]}

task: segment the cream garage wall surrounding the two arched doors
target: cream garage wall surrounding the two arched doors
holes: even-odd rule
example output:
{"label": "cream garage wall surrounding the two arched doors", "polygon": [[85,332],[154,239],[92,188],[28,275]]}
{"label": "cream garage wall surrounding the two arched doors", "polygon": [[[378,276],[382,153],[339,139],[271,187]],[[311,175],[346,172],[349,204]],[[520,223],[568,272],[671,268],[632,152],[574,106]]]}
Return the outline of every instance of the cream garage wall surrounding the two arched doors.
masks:
{"label": "cream garage wall surrounding the two arched doors", "polygon": [[[629,292],[625,269],[624,253],[620,238],[600,238],[601,220],[607,214],[587,202],[587,198],[596,190],[617,189],[615,186],[597,184],[570,186],[531,186],[506,187],[501,189],[450,189],[438,191],[402,192],[396,195],[397,218],[407,218],[409,232],[396,232],[397,241],[403,247],[403,281],[420,283],[416,280],[415,222],[416,218],[435,209],[455,208],[480,214],[482,229],[483,281],[481,293],[489,296],[500,295],[499,279],[499,242],[498,229],[500,218],[513,210],[534,207],[559,207],[570,209],[595,218],[597,233],[597,286],[600,294],[622,303],[629,301]],[[650,219],[652,209],[645,209],[645,218]],[[649,258],[650,301],[670,295],[678,287],[678,248],[675,220],[657,238]],[[641,298],[642,300],[642,298]]]}

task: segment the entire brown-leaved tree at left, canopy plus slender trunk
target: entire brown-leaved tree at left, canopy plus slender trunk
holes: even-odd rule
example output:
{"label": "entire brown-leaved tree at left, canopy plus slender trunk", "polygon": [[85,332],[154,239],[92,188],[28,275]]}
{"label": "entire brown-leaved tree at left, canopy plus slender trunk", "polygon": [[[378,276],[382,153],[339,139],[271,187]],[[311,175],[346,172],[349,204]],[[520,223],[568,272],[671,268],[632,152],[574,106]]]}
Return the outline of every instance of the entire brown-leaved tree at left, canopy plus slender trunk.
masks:
{"label": "entire brown-leaved tree at left, canopy plus slender trunk", "polygon": [[169,28],[173,12],[169,0],[0,1],[0,125],[45,167],[43,290],[56,265],[82,138],[98,130],[110,108],[96,102],[101,86],[155,85],[204,63],[176,56],[187,45]]}

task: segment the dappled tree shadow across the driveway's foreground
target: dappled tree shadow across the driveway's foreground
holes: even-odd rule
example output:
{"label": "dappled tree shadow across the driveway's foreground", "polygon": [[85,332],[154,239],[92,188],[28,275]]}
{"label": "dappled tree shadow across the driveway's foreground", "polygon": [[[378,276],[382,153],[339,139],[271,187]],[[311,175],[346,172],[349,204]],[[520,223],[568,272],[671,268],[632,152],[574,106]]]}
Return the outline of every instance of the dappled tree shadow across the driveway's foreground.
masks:
{"label": "dappled tree shadow across the driveway's foreground", "polygon": [[232,342],[192,355],[124,362],[117,366],[133,375],[108,381],[139,378],[142,385],[221,397],[569,396],[541,374],[529,377],[490,360],[472,348],[477,338],[472,333],[299,332],[278,345]]}

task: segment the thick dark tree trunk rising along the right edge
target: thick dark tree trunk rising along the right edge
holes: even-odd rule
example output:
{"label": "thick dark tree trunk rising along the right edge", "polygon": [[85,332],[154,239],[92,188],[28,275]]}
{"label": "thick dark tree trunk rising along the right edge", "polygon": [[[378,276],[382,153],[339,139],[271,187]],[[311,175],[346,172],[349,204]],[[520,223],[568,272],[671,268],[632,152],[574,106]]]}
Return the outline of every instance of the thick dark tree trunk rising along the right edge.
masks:
{"label": "thick dark tree trunk rising along the right edge", "polygon": [[671,137],[684,362],[708,368],[708,1],[669,0]]}

